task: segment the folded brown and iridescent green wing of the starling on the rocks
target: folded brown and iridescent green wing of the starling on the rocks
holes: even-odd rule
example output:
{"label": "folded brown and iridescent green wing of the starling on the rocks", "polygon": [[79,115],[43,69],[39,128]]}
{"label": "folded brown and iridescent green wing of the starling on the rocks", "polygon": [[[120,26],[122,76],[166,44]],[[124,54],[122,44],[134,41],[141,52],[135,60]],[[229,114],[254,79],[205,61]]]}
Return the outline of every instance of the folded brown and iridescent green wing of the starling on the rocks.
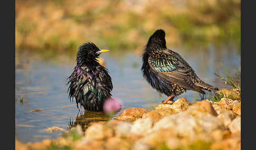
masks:
{"label": "folded brown and iridescent green wing of the starling on the rocks", "polygon": [[148,59],[150,67],[156,71],[162,78],[176,83],[181,87],[204,93],[196,86],[190,74],[190,67],[187,68],[182,60],[171,53],[157,53],[154,57]]}

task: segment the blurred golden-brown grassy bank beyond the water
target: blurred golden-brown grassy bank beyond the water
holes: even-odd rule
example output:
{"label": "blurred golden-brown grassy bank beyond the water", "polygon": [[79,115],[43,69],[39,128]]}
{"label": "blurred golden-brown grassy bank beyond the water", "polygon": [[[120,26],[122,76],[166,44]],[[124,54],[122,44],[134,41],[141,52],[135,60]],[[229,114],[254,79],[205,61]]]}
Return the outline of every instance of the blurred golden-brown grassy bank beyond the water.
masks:
{"label": "blurred golden-brown grassy bank beyond the water", "polygon": [[16,50],[76,51],[94,41],[102,48],[140,53],[160,28],[172,46],[227,40],[240,45],[240,1],[183,2],[16,0]]}

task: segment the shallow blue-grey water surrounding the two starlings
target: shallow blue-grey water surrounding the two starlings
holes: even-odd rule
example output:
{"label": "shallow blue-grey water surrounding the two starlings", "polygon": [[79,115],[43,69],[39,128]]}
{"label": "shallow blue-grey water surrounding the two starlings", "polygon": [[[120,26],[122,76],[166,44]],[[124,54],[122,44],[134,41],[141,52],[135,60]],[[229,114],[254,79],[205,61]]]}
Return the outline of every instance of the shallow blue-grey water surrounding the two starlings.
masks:
{"label": "shallow blue-grey water surrounding the two starlings", "polygon": [[[182,48],[173,50],[180,53],[203,81],[219,88],[227,85],[213,73],[222,74],[223,66],[231,71],[240,67],[240,53],[232,46],[223,46],[218,50],[215,47],[197,51]],[[68,130],[77,123],[107,120],[107,116],[102,113],[78,112],[75,102],[68,100],[66,79],[76,65],[75,56],[71,60],[65,59],[65,54],[58,57],[62,59],[45,59],[31,53],[16,52],[15,98],[23,96],[22,103],[15,101],[16,137],[21,142],[42,141],[59,137],[63,133],[47,133],[44,130],[48,127],[58,126]],[[151,110],[152,106],[166,99],[165,95],[152,89],[143,79],[140,56],[131,52],[122,58],[116,58],[113,53],[104,53],[102,57],[112,77],[113,97],[122,101],[122,110],[130,106]],[[199,93],[193,91],[181,97],[190,102],[200,100]],[[33,110],[42,111],[31,112]]]}

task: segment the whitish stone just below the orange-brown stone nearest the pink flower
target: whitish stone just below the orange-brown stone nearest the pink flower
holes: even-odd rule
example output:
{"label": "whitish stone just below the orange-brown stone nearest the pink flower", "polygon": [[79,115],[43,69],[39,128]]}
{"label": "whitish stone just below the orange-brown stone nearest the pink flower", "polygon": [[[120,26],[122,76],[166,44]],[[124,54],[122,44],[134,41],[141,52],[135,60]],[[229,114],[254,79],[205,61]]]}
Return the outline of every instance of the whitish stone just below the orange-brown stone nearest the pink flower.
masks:
{"label": "whitish stone just below the orange-brown stone nearest the pink flower", "polygon": [[138,119],[132,125],[131,134],[145,135],[151,130],[152,126],[153,120],[150,117],[146,117],[145,119]]}

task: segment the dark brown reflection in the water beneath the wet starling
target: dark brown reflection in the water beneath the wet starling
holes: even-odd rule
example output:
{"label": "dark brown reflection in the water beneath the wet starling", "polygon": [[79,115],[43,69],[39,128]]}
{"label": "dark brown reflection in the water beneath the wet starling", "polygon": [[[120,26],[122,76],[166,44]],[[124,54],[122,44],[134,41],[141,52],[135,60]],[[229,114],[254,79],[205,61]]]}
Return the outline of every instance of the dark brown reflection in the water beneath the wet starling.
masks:
{"label": "dark brown reflection in the water beneath the wet starling", "polygon": [[[114,115],[117,113],[118,112],[116,112]],[[113,116],[113,114],[111,114],[111,116]],[[81,125],[82,130],[85,131],[91,122],[108,121],[112,118],[111,116],[104,112],[80,111],[75,118],[75,122],[70,118],[67,128],[70,130],[72,127],[75,127],[77,124],[79,124]]]}

